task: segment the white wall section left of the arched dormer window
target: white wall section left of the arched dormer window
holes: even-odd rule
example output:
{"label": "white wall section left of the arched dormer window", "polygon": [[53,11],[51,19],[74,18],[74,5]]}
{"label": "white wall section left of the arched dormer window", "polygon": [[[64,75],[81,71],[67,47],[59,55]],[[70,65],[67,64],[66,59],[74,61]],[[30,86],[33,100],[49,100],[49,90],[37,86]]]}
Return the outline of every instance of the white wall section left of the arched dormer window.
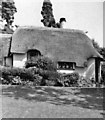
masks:
{"label": "white wall section left of the arched dormer window", "polygon": [[27,54],[13,54],[13,67],[23,68],[27,60]]}

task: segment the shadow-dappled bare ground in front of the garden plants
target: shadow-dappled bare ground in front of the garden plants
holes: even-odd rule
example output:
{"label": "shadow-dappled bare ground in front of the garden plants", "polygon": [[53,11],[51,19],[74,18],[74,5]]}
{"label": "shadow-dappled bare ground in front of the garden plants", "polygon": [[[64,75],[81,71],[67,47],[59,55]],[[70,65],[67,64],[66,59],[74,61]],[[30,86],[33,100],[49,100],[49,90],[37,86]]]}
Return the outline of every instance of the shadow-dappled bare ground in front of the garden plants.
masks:
{"label": "shadow-dappled bare ground in front of the garden plants", "polygon": [[0,86],[2,118],[103,118],[104,88]]}

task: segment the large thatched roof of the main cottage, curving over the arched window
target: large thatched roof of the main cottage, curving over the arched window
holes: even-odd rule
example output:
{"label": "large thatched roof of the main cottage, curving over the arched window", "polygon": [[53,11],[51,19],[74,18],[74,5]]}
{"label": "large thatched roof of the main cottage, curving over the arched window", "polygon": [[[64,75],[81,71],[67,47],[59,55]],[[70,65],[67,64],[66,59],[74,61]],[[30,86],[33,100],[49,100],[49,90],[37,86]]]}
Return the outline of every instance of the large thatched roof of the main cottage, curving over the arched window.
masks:
{"label": "large thatched roof of the main cottage, curving over the arched window", "polygon": [[56,61],[76,62],[84,66],[91,57],[101,57],[91,40],[80,30],[20,27],[13,34],[11,52],[26,53],[39,50]]}

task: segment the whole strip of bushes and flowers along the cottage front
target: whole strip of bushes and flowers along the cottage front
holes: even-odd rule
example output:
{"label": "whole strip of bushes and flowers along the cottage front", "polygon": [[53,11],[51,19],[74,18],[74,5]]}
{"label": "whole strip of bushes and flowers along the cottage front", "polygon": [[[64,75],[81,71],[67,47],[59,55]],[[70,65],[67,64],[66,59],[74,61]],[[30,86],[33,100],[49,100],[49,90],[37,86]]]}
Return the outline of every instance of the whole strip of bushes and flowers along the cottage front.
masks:
{"label": "whole strip of bushes and flowers along the cottage front", "polygon": [[[85,79],[79,73],[61,74],[56,63],[46,57],[26,61],[24,68],[1,67],[0,83],[29,86],[94,87],[94,78]],[[100,87],[105,86],[105,65],[102,66]]]}

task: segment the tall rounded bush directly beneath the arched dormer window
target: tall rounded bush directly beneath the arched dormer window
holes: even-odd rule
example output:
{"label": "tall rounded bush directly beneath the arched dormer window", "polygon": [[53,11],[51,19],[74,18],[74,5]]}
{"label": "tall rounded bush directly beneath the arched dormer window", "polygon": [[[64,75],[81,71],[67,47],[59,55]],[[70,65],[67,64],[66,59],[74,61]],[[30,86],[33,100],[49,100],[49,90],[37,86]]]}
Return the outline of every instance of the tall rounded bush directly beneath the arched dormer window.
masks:
{"label": "tall rounded bush directly beneath the arched dormer window", "polygon": [[37,57],[26,61],[25,67],[36,67],[42,70],[56,71],[56,64],[47,57]]}

